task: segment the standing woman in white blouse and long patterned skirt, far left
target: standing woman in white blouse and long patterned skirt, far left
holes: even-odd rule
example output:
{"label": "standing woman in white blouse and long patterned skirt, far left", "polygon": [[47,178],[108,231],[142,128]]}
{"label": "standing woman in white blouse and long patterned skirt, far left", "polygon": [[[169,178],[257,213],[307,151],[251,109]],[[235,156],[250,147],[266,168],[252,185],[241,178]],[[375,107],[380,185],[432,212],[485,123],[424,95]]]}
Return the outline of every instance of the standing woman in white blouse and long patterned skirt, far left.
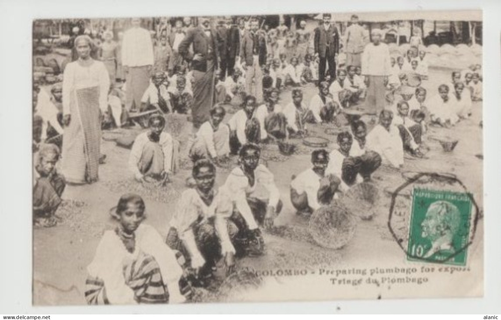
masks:
{"label": "standing woman in white blouse and long patterned skirt, far left", "polygon": [[78,60],[69,63],[63,80],[63,173],[74,184],[98,180],[100,113],[108,108],[110,78],[105,65],[90,57],[92,40],[75,39]]}

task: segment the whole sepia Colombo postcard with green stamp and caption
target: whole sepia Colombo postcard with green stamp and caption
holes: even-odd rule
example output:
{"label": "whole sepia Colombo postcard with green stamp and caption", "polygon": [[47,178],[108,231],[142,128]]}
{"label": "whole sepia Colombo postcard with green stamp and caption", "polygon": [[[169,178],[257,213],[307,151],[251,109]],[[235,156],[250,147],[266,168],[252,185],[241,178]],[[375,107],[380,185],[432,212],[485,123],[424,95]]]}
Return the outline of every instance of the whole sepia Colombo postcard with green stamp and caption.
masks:
{"label": "whole sepia Colombo postcard with green stamp and caption", "polygon": [[483,295],[482,12],[33,22],[33,304]]}

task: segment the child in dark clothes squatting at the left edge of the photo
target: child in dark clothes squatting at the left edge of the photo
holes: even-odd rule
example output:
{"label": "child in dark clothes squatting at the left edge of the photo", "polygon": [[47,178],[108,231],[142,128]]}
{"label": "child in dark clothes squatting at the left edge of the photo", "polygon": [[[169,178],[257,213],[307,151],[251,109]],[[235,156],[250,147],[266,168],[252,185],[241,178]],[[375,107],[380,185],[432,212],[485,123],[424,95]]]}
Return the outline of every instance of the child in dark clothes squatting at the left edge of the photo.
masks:
{"label": "child in dark clothes squatting at the left edge of the photo", "polygon": [[36,226],[53,227],[66,181],[56,170],[60,151],[55,144],[42,144],[33,170],[33,218]]}

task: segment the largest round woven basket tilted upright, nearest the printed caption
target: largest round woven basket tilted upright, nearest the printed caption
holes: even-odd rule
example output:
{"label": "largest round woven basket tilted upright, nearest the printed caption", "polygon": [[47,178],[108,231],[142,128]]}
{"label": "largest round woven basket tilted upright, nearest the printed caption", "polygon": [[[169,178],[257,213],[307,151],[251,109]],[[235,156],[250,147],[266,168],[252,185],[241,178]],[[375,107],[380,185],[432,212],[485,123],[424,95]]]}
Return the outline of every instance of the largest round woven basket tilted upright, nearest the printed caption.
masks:
{"label": "largest round woven basket tilted upright, nearest the printed caption", "polygon": [[340,202],[315,210],[310,218],[308,232],[315,242],[328,249],[341,249],[355,235],[357,219]]}

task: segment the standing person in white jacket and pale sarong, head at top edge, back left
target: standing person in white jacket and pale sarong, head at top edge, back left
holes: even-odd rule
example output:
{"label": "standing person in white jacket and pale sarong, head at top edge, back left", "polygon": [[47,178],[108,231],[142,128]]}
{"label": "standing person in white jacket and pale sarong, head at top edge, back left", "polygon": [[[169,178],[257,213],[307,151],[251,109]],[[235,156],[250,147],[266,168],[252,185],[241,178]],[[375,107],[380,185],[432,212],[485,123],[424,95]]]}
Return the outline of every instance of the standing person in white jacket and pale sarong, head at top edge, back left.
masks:
{"label": "standing person in white jacket and pale sarong, head at top edge, back left", "polygon": [[122,65],[126,74],[127,111],[139,109],[144,91],[150,84],[153,67],[153,44],[150,32],[140,27],[141,19],[132,18],[132,28],[124,33]]}

